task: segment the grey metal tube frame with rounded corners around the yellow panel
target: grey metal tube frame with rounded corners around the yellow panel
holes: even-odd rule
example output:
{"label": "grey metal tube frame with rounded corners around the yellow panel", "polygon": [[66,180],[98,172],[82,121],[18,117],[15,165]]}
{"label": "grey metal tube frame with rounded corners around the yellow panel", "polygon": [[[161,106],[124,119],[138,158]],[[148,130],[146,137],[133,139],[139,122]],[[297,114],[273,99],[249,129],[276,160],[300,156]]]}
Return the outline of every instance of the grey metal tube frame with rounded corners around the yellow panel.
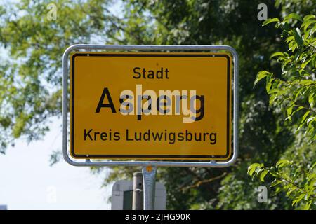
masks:
{"label": "grey metal tube frame with rounded corners around the yellow panel", "polygon": [[[117,161],[117,160],[89,160],[83,161],[73,160],[70,158],[67,150],[68,146],[68,57],[70,52],[75,50],[139,50],[139,51],[210,51],[230,52],[234,62],[233,74],[233,151],[232,158],[225,162],[217,162],[211,160],[209,162],[168,162],[168,161]],[[238,155],[238,55],[234,48],[228,45],[91,45],[77,44],[72,45],[65,50],[62,56],[62,153],[65,160],[74,166],[79,167],[105,167],[105,166],[152,166],[152,167],[229,167],[237,160]]]}

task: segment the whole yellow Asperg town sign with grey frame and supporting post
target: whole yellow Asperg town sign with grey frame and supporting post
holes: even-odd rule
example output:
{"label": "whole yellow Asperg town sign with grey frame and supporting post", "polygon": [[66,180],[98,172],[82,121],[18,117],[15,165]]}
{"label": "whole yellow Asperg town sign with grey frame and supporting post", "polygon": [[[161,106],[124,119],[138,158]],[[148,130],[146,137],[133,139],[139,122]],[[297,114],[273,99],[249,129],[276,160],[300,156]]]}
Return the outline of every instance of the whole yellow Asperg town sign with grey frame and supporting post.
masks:
{"label": "whole yellow Asperg town sign with grey frame and supporting post", "polygon": [[[66,162],[79,167],[143,167],[144,209],[154,209],[157,167],[229,167],[237,160],[238,55],[228,45],[72,45],[62,57],[62,73]],[[167,98],[159,101],[166,97],[158,94],[160,90],[174,97],[171,107],[179,106],[178,97],[186,105],[182,109],[193,105],[192,113],[178,108],[161,116],[169,112],[159,111],[159,106],[170,105]],[[192,102],[182,103],[189,98]],[[133,105],[138,111],[122,116],[121,106],[124,111],[124,101],[130,99],[140,99]],[[137,104],[142,99],[147,99],[147,109],[157,106],[154,116],[144,114]],[[157,133],[165,139],[154,139]],[[135,141],[140,135],[154,140]],[[176,143],[171,142],[173,135]]]}

